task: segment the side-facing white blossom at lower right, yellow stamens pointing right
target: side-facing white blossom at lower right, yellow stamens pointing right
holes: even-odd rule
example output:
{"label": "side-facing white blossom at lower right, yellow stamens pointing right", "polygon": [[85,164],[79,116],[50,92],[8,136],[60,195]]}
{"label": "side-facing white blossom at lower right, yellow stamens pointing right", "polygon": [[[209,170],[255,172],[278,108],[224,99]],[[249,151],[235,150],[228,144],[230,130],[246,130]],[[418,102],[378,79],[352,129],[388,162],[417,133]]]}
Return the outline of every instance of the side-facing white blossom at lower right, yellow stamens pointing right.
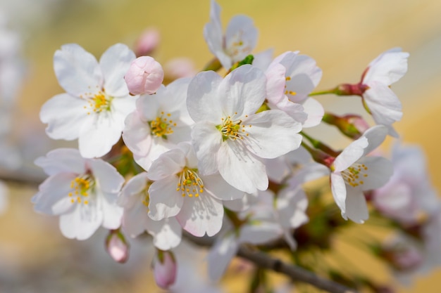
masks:
{"label": "side-facing white blossom at lower right, yellow stamens pointing right", "polygon": [[393,173],[392,163],[383,157],[367,157],[387,135],[387,128],[377,125],[352,142],[330,165],[330,183],[334,200],[344,219],[364,223],[368,207],[364,191],[380,188]]}

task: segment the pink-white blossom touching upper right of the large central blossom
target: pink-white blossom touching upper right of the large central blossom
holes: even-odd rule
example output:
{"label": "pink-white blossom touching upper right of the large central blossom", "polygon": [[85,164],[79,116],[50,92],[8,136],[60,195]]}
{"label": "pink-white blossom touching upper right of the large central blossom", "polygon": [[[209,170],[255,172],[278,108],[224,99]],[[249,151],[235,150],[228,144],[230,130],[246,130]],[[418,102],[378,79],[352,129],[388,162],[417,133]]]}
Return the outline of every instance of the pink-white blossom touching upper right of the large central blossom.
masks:
{"label": "pink-white blossom touching upper right of the large central blossom", "polygon": [[298,51],[282,53],[266,70],[269,107],[287,112],[304,127],[318,125],[324,114],[323,106],[308,95],[321,76],[322,71],[313,58],[299,55]]}

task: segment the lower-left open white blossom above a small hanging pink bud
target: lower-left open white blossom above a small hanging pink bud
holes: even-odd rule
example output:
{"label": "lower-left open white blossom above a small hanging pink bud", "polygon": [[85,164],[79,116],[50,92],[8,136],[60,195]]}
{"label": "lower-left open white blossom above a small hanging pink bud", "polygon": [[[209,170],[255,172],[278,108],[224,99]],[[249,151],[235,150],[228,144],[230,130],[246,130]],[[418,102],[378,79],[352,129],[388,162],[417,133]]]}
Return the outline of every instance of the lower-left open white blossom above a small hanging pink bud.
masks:
{"label": "lower-left open white blossom above a small hanging pink bud", "polygon": [[32,197],[35,211],[60,216],[64,236],[85,240],[99,226],[120,226],[123,209],[116,199],[124,178],[111,164],[68,148],[52,150],[35,164],[49,175]]}

